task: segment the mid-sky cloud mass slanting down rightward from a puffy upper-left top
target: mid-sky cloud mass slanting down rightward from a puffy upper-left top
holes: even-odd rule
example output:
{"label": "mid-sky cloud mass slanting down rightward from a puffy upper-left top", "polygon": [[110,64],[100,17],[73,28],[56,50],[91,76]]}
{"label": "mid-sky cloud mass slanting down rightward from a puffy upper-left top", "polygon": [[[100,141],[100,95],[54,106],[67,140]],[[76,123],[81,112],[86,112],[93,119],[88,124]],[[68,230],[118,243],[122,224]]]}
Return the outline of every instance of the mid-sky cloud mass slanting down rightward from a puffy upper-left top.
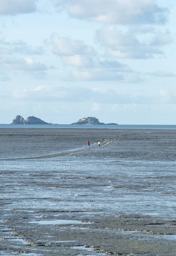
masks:
{"label": "mid-sky cloud mass slanting down rightward from a puffy upper-left top", "polygon": [[54,54],[61,57],[63,64],[73,67],[65,80],[117,81],[124,79],[121,72],[133,72],[126,64],[100,58],[94,47],[86,45],[83,41],[63,38],[53,33],[50,41],[46,43],[52,46]]}

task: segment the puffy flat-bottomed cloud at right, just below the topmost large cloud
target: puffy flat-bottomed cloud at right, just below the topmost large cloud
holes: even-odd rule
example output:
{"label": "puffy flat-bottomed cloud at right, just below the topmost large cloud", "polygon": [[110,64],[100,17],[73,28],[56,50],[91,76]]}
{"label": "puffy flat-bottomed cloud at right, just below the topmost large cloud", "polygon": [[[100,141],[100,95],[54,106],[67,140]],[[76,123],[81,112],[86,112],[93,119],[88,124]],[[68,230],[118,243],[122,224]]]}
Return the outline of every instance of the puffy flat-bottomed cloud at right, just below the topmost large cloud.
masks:
{"label": "puffy flat-bottomed cloud at right, just below the topmost large cloud", "polygon": [[134,30],[123,32],[114,26],[105,26],[96,31],[96,39],[104,47],[105,55],[111,58],[153,58],[155,55],[164,55],[161,46],[170,43],[168,31],[158,32],[150,30],[146,38],[146,30],[139,34]]}

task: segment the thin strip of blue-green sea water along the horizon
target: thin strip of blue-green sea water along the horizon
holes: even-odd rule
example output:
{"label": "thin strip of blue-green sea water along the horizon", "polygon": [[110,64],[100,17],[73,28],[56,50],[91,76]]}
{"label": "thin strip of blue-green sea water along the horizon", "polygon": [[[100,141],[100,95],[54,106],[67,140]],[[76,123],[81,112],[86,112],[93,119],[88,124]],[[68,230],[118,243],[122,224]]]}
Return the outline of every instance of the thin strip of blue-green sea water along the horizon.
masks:
{"label": "thin strip of blue-green sea water along the horizon", "polygon": [[75,129],[159,129],[176,130],[176,125],[9,125],[0,124],[0,128],[75,128]]}

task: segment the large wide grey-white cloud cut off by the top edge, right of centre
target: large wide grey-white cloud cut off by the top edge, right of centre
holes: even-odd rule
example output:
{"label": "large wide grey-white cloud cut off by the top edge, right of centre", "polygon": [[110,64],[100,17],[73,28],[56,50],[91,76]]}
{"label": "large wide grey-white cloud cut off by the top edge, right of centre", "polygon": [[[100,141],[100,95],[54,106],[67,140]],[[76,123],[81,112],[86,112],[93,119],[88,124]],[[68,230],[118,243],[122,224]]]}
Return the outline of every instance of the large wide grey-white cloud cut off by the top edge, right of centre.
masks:
{"label": "large wide grey-white cloud cut off by the top edge, right of centre", "polygon": [[100,23],[163,24],[169,9],[156,0],[52,0],[58,11],[66,10],[71,17]]}

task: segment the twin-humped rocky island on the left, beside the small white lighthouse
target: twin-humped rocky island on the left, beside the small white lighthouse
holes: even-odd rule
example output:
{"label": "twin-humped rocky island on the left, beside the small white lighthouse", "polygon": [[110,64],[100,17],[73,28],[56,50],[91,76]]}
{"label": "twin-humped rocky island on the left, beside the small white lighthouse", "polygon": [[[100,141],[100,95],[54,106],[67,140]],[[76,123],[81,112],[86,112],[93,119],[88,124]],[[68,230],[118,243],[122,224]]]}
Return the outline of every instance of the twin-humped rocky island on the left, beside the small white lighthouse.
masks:
{"label": "twin-humped rocky island on the left, beside the small white lighthouse", "polygon": [[26,120],[23,116],[17,115],[15,119],[13,119],[11,125],[49,125],[49,123],[44,122],[40,118],[35,116],[29,116]]}

